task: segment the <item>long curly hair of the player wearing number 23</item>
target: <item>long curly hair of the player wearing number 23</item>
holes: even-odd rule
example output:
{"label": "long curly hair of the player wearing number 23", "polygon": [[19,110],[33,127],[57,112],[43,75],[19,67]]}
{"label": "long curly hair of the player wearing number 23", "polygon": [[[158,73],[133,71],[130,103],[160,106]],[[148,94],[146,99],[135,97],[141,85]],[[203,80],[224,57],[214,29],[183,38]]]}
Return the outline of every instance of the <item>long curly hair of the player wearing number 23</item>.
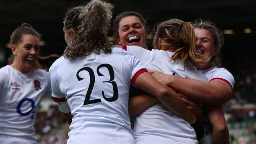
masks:
{"label": "long curly hair of the player wearing number 23", "polygon": [[101,0],[91,0],[87,5],[72,7],[66,11],[64,27],[75,31],[64,51],[64,57],[73,59],[94,52],[111,53],[112,43],[107,32],[112,18],[113,5]]}

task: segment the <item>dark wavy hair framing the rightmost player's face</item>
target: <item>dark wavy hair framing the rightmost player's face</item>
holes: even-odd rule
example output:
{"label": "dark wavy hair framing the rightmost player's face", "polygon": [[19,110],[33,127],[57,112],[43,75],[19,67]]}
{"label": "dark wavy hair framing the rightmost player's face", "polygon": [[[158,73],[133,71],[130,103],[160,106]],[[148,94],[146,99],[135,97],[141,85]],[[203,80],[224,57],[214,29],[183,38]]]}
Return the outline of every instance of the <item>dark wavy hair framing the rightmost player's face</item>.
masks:
{"label": "dark wavy hair framing the rightmost player's face", "polygon": [[214,39],[214,46],[215,46],[215,48],[218,48],[217,55],[211,57],[211,59],[210,59],[211,66],[217,66],[220,68],[222,66],[220,49],[224,44],[224,35],[223,35],[222,31],[219,30],[215,26],[215,23],[210,22],[210,21],[203,21],[201,19],[195,20],[193,26],[194,26],[194,28],[210,31],[211,36]]}

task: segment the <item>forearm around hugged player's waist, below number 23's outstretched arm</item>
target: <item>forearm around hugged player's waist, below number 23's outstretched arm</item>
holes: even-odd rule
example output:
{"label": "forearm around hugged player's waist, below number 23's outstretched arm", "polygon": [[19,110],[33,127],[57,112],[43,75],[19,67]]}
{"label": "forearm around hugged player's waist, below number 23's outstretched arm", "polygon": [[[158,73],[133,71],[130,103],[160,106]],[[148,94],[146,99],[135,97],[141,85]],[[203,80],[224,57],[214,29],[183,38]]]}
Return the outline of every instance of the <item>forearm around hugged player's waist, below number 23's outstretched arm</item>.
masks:
{"label": "forearm around hugged player's waist, below number 23's outstretched arm", "polygon": [[140,114],[151,105],[158,102],[158,98],[150,94],[138,94],[129,98],[129,115],[135,116]]}

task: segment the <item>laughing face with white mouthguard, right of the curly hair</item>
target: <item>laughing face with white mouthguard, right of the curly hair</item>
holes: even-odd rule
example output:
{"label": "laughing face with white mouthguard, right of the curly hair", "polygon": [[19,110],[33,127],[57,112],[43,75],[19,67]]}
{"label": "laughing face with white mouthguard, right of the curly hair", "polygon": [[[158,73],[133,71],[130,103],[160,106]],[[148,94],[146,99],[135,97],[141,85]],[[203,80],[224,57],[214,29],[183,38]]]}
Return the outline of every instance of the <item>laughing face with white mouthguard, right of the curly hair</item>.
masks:
{"label": "laughing face with white mouthguard, right of the curly hair", "polygon": [[117,42],[123,46],[146,47],[147,32],[137,16],[126,16],[119,22]]}

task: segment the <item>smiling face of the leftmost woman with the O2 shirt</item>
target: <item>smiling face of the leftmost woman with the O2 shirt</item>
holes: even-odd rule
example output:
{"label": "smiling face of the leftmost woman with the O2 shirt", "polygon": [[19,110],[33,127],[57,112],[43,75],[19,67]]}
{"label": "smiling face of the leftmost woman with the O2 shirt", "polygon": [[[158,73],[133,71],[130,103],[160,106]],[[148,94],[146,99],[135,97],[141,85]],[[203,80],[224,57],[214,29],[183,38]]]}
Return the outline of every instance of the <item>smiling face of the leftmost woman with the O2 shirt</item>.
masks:
{"label": "smiling face of the leftmost woman with the O2 shirt", "polygon": [[24,34],[21,42],[11,45],[11,50],[15,57],[11,66],[22,73],[28,73],[35,66],[39,57],[39,38],[31,34]]}

